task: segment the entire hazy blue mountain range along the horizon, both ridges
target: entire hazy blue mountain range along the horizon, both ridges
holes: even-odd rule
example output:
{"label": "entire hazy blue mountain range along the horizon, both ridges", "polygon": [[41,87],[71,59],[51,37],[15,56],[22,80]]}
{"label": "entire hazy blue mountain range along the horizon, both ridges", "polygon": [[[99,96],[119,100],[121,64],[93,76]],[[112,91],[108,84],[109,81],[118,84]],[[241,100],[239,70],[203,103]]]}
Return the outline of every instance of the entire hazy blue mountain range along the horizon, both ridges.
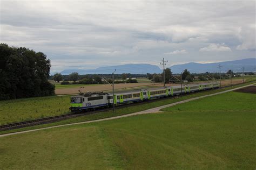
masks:
{"label": "entire hazy blue mountain range along the horizon, both ridges", "polygon": [[[173,65],[171,70],[174,74],[181,73],[182,70],[187,69],[190,73],[205,73],[205,72],[219,72],[218,65],[223,66],[221,72],[227,72],[232,69],[233,72],[242,72],[244,67],[245,72],[255,72],[256,59],[242,59],[234,61],[214,62],[214,63],[196,63],[190,62],[182,65]],[[118,66],[99,67],[96,69],[65,69],[60,72],[62,75],[69,75],[77,72],[79,74],[111,74],[116,69],[115,74],[131,73],[131,74],[146,74],[146,73],[162,73],[163,70],[158,66],[150,64],[127,64]],[[51,74],[53,75],[53,74]]]}

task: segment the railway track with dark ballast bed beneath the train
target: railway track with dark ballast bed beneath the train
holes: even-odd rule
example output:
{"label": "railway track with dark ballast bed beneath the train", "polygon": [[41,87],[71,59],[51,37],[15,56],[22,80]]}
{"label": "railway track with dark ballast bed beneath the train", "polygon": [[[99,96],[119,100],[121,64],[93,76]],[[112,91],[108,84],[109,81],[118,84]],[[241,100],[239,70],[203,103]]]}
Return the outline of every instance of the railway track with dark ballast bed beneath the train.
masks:
{"label": "railway track with dark ballast bed beneath the train", "polygon": [[[237,86],[237,85],[239,85],[239,84],[235,84],[233,86]],[[231,87],[231,86],[230,85],[229,86],[223,86],[223,87],[220,87],[218,89],[227,88],[227,87]],[[211,89],[211,90],[215,90],[215,89]],[[200,93],[200,91],[197,91],[197,92],[194,92],[194,93]],[[194,93],[182,94],[182,96],[187,96],[187,95],[191,95],[191,94],[194,94]],[[181,95],[178,95],[178,96],[181,96]],[[169,100],[170,98],[176,98],[178,96],[158,98],[158,99],[155,99],[155,100],[149,100],[149,101],[144,101],[144,102],[130,103],[129,106],[139,105],[139,104],[142,104],[142,103],[151,103],[151,102],[161,101],[161,100]],[[125,108],[125,107],[127,107],[127,104],[117,105],[116,106],[116,108]],[[75,118],[75,117],[95,114],[97,112],[103,112],[103,111],[109,111],[109,110],[112,110],[112,108],[97,109],[97,110],[92,110],[92,111],[87,111],[87,112],[79,112],[79,113],[70,113],[70,114],[65,114],[65,115],[59,115],[59,116],[53,116],[53,117],[45,117],[45,118],[40,118],[40,119],[34,119],[34,120],[31,120],[31,121],[17,122],[17,123],[11,123],[11,124],[6,124],[6,125],[0,125],[0,131],[24,128],[24,127],[27,127],[27,126],[34,126],[34,125],[53,123],[53,122],[63,121],[65,119],[70,119],[70,118]]]}

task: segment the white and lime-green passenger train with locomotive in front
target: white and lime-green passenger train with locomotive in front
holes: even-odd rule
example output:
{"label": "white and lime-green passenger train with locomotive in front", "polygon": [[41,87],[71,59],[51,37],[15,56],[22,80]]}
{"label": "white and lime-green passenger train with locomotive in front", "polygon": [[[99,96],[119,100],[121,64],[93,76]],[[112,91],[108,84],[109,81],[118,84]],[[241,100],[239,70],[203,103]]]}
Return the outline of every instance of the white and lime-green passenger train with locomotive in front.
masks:
{"label": "white and lime-green passenger train with locomotive in front", "polygon": [[80,93],[70,98],[70,111],[82,112],[98,108],[106,108],[114,105],[129,104],[154,100],[156,98],[170,97],[174,95],[194,93],[201,90],[219,88],[219,82],[185,84],[181,86],[166,86],[158,88],[147,88],[112,93]]}

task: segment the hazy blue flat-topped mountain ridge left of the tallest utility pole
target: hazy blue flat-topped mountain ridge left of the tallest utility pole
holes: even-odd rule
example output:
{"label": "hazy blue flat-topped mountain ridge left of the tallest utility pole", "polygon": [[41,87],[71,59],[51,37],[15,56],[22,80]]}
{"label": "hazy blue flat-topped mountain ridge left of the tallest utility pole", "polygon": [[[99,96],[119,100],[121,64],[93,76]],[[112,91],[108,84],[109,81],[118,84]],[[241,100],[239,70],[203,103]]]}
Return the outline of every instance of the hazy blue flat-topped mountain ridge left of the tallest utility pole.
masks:
{"label": "hazy blue flat-topped mountain ridge left of the tallest utility pole", "polygon": [[161,73],[163,72],[158,66],[149,64],[127,64],[118,66],[99,67],[96,69],[65,69],[60,74],[69,75],[77,72],[79,74],[111,74],[116,69],[115,74],[131,73],[131,74],[146,74],[146,73]]}

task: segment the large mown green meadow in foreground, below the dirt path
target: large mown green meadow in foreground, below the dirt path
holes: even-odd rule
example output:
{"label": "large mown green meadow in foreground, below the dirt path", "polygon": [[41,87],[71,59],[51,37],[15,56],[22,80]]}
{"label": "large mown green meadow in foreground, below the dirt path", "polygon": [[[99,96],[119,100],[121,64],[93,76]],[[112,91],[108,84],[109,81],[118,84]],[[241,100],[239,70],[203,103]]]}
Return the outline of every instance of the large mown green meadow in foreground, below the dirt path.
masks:
{"label": "large mown green meadow in foreground, below the dirt path", "polygon": [[255,94],[0,138],[3,169],[254,169]]}

